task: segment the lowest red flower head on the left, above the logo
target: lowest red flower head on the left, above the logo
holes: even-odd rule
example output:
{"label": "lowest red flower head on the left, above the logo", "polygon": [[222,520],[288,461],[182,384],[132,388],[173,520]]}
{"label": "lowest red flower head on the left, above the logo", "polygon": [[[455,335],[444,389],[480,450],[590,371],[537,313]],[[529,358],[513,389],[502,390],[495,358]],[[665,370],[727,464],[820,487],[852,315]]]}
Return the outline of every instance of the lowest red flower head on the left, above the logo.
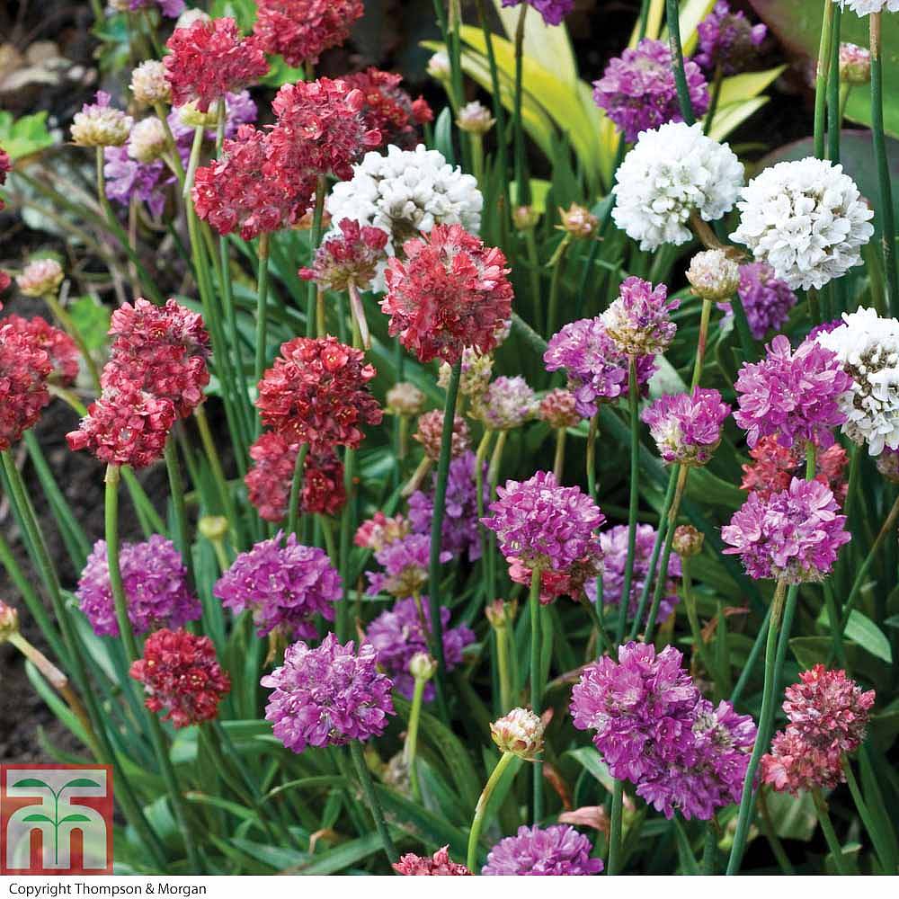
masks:
{"label": "lowest red flower head on the left, above the logo", "polygon": [[197,725],[218,715],[218,703],[231,690],[208,636],[186,630],[157,630],[147,637],[144,656],[131,663],[131,677],[144,685],[144,704],[164,708],[163,720],[175,727]]}

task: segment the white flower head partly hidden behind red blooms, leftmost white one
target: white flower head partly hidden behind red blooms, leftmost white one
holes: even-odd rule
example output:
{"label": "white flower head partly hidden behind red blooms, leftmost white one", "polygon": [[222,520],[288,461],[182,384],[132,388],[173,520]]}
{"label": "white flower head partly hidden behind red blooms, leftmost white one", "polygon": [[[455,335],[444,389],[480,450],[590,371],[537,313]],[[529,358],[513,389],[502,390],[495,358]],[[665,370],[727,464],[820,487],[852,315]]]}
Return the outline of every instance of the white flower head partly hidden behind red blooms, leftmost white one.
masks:
{"label": "white flower head partly hidden behind red blooms, leftmost white one", "polygon": [[[453,168],[437,150],[391,145],[387,156],[367,153],[353,166],[350,181],[338,182],[326,201],[334,227],[344,218],[387,231],[387,255],[435,225],[461,225],[472,234],[481,227],[484,197],[470,174]],[[372,289],[384,289],[382,263]]]}

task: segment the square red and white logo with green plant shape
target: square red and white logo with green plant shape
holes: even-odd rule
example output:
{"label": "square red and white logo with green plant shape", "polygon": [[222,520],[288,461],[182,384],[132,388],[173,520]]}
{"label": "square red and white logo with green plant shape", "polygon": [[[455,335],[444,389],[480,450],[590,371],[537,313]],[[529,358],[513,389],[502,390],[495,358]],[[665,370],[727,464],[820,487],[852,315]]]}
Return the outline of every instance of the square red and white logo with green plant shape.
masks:
{"label": "square red and white logo with green plant shape", "polygon": [[0,765],[0,874],[111,874],[109,765]]}

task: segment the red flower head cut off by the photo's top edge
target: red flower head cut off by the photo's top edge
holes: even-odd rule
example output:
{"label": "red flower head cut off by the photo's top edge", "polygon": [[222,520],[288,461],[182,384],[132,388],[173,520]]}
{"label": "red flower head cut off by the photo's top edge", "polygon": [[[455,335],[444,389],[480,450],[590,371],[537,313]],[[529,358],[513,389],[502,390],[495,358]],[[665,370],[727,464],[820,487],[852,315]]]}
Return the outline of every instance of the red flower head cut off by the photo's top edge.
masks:
{"label": "red flower head cut off by the photo's top edge", "polygon": [[266,53],[302,66],[339,47],[362,12],[361,0],[257,0],[253,31]]}

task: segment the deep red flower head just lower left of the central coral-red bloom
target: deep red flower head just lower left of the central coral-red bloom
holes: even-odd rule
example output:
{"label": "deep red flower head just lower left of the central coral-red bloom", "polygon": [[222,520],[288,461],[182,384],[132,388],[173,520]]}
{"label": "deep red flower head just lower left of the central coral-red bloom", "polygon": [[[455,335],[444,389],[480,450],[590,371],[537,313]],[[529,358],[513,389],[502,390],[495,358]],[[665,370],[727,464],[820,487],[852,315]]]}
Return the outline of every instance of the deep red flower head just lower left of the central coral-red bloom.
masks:
{"label": "deep red flower head just lower left of the central coral-red bloom", "polygon": [[381,420],[366,386],[375,374],[361,350],[336,337],[295,337],[263,375],[256,405],[263,424],[290,442],[355,448],[365,436],[360,425]]}

